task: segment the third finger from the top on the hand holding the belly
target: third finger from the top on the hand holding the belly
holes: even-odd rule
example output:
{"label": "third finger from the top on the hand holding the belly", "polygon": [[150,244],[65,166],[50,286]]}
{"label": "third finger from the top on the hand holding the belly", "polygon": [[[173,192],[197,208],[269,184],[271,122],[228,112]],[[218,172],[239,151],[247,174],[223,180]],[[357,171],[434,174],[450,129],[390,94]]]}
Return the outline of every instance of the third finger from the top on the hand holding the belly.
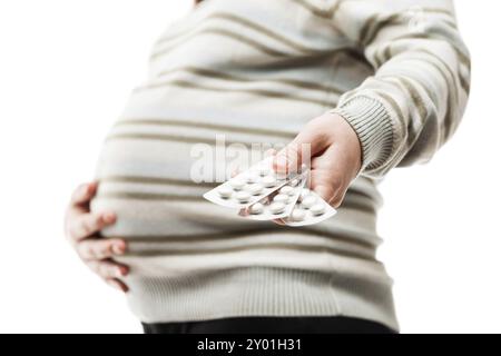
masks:
{"label": "third finger from the top on the hand holding the belly", "polygon": [[121,256],[126,253],[127,244],[121,239],[86,239],[77,244],[77,254],[84,260],[106,259]]}

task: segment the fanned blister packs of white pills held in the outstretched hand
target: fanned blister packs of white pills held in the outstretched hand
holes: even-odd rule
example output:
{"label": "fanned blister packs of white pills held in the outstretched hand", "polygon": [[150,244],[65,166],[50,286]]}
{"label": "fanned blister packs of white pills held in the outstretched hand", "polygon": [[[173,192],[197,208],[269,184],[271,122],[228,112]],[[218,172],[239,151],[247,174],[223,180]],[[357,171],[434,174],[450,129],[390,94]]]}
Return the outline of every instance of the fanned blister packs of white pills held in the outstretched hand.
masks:
{"label": "fanned blister packs of white pills held in the outstretched hand", "polygon": [[308,169],[278,175],[273,170],[273,157],[254,165],[218,187],[204,198],[254,220],[279,220],[287,226],[306,226],[334,216],[336,210],[317,194],[307,189]]}

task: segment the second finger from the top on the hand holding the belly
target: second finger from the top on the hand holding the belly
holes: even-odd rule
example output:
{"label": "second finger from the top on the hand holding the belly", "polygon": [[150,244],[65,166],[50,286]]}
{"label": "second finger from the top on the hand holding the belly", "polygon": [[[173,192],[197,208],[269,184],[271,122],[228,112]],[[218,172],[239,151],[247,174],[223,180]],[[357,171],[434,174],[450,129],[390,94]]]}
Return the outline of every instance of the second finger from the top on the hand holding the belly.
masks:
{"label": "second finger from the top on the hand holding the belly", "polygon": [[80,241],[90,237],[105,227],[115,224],[117,217],[114,212],[80,214],[68,218],[69,237],[72,241]]}

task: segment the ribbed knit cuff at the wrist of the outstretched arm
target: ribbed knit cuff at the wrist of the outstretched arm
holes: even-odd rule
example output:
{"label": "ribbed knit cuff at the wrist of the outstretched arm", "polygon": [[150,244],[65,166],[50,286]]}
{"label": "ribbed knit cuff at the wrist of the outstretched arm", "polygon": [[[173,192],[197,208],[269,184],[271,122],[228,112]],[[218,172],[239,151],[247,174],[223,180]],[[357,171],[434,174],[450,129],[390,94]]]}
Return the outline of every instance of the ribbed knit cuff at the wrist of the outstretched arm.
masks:
{"label": "ribbed knit cuff at the wrist of the outstretched arm", "polygon": [[387,161],[393,148],[393,127],[381,101],[357,96],[330,112],[343,117],[358,136],[363,154],[361,172],[375,170]]}

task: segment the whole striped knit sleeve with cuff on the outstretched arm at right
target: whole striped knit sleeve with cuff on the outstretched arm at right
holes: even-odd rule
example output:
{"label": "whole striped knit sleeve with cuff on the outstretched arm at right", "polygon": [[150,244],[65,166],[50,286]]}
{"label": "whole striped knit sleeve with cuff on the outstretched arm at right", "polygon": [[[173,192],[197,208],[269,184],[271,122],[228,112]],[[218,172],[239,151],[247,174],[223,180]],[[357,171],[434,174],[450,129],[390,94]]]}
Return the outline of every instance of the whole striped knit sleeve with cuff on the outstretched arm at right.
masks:
{"label": "whole striped knit sleeve with cuff on the outstretched arm at right", "polygon": [[334,20],[374,76],[332,110],[356,131],[362,175],[430,160],[465,109],[470,58],[450,0],[340,0]]}

